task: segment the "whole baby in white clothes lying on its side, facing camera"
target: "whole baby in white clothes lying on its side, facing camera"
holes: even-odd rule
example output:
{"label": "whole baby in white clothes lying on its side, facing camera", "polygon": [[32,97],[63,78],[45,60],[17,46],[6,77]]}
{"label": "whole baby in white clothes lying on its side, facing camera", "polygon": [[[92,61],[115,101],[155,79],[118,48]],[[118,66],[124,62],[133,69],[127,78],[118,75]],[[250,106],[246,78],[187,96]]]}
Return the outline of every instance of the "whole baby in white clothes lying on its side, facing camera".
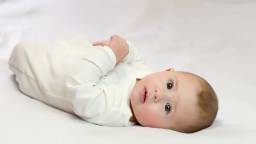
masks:
{"label": "whole baby in white clothes lying on its side, facing camera", "polygon": [[117,35],[95,43],[78,35],[51,47],[19,43],[9,67],[23,93],[97,125],[193,133],[218,112],[216,93],[202,77],[173,68],[153,72]]}

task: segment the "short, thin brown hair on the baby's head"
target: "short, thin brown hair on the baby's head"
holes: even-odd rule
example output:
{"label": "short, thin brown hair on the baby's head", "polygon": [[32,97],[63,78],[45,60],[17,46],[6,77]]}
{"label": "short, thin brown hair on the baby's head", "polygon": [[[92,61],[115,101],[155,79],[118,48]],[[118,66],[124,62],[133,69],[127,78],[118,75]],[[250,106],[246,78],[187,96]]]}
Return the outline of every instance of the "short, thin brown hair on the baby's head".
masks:
{"label": "short, thin brown hair on the baby's head", "polygon": [[195,123],[186,125],[178,131],[194,133],[211,126],[218,113],[219,102],[215,91],[205,79],[189,72],[184,73],[195,76],[199,81],[200,88],[196,91],[198,117]]}

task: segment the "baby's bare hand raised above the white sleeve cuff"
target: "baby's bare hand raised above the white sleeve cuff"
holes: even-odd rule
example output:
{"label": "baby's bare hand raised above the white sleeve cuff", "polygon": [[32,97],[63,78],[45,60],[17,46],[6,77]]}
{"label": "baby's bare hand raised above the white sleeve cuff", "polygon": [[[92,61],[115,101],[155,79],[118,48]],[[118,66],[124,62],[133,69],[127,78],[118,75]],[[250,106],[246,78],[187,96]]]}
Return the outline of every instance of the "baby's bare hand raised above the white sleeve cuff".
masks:
{"label": "baby's bare hand raised above the white sleeve cuff", "polygon": [[122,59],[125,58],[129,52],[129,45],[126,43],[126,40],[117,35],[112,35],[110,40],[97,41],[93,43],[93,46],[96,45],[107,46],[111,48],[117,59],[116,64],[122,61]]}

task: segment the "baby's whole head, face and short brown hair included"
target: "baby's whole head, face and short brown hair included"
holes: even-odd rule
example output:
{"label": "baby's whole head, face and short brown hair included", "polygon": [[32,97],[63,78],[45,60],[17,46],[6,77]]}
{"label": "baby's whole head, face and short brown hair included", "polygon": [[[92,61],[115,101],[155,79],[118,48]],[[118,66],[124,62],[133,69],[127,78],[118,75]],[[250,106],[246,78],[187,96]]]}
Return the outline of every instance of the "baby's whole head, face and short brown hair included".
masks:
{"label": "baby's whole head, face and short brown hair included", "polygon": [[167,69],[136,83],[131,109],[142,126],[193,133],[213,123],[218,99],[203,78]]}

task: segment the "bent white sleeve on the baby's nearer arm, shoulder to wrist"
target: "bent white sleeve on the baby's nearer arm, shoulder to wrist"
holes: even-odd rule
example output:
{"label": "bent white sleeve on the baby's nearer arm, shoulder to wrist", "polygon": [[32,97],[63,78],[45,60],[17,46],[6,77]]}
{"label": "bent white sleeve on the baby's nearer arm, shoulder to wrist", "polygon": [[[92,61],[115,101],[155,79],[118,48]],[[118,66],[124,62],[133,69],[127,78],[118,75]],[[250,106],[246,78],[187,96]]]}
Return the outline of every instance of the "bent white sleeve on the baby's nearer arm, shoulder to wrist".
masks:
{"label": "bent white sleeve on the baby's nearer arm, shoulder to wrist", "polygon": [[109,47],[97,46],[80,53],[78,61],[67,75],[66,87],[74,112],[82,119],[102,125],[100,117],[106,111],[104,85],[101,76],[114,69],[115,53]]}

